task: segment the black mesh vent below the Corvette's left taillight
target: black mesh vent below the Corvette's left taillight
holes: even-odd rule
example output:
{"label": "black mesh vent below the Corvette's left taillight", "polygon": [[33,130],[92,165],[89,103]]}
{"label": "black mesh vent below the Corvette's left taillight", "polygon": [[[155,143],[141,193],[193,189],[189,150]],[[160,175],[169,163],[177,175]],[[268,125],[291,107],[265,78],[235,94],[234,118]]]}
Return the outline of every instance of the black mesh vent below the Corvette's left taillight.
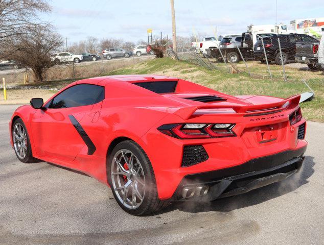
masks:
{"label": "black mesh vent below the Corvette's left taillight", "polygon": [[182,167],[189,167],[206,161],[208,154],[202,145],[186,145],[183,148]]}

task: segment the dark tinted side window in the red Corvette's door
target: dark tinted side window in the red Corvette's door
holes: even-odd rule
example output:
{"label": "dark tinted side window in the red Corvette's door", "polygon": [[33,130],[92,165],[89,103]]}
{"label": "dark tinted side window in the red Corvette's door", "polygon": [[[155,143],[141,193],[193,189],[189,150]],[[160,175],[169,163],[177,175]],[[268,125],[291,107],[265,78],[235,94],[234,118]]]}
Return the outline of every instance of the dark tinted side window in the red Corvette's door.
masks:
{"label": "dark tinted side window in the red Corvette's door", "polygon": [[78,84],[65,89],[52,100],[49,108],[68,108],[96,104],[104,99],[104,87]]}

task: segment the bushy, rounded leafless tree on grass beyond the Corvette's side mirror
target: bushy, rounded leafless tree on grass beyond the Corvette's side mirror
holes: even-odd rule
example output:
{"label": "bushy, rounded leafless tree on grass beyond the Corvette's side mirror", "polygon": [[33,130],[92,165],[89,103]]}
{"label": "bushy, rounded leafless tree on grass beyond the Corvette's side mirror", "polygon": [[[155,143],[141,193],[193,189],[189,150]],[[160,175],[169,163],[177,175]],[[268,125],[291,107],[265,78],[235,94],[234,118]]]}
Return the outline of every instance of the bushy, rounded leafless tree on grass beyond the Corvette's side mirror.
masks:
{"label": "bushy, rounded leafless tree on grass beyond the Corvette's side mirror", "polygon": [[61,47],[63,40],[49,25],[30,26],[27,32],[8,43],[5,56],[29,67],[33,71],[34,82],[42,82],[46,71],[55,65],[50,54]]}

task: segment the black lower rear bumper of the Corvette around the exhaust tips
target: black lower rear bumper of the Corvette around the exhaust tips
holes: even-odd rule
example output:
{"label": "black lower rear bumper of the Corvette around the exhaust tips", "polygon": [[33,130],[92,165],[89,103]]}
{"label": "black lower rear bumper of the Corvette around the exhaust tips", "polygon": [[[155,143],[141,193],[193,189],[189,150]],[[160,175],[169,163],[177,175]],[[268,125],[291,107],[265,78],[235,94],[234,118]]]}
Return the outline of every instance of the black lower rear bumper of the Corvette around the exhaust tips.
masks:
{"label": "black lower rear bumper of the Corvette around the exhaust tips", "polygon": [[[252,159],[230,168],[187,175],[169,200],[213,201],[282,181],[302,167],[306,148],[307,146],[296,151],[284,151]],[[183,192],[185,188],[195,193],[191,197],[186,197]],[[201,188],[207,190],[205,194],[199,192]]]}

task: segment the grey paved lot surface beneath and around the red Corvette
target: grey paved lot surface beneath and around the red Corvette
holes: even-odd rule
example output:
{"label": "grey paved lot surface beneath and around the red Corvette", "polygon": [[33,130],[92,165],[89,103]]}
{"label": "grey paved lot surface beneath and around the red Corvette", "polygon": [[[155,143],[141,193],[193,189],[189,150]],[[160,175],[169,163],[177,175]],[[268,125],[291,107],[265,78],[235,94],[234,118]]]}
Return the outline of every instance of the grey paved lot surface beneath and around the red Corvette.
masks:
{"label": "grey paved lot surface beneath and around the red Corvette", "polygon": [[47,162],[19,162],[8,129],[16,108],[0,106],[0,244],[324,242],[324,124],[308,122],[304,167],[282,183],[135,217],[95,179]]}

